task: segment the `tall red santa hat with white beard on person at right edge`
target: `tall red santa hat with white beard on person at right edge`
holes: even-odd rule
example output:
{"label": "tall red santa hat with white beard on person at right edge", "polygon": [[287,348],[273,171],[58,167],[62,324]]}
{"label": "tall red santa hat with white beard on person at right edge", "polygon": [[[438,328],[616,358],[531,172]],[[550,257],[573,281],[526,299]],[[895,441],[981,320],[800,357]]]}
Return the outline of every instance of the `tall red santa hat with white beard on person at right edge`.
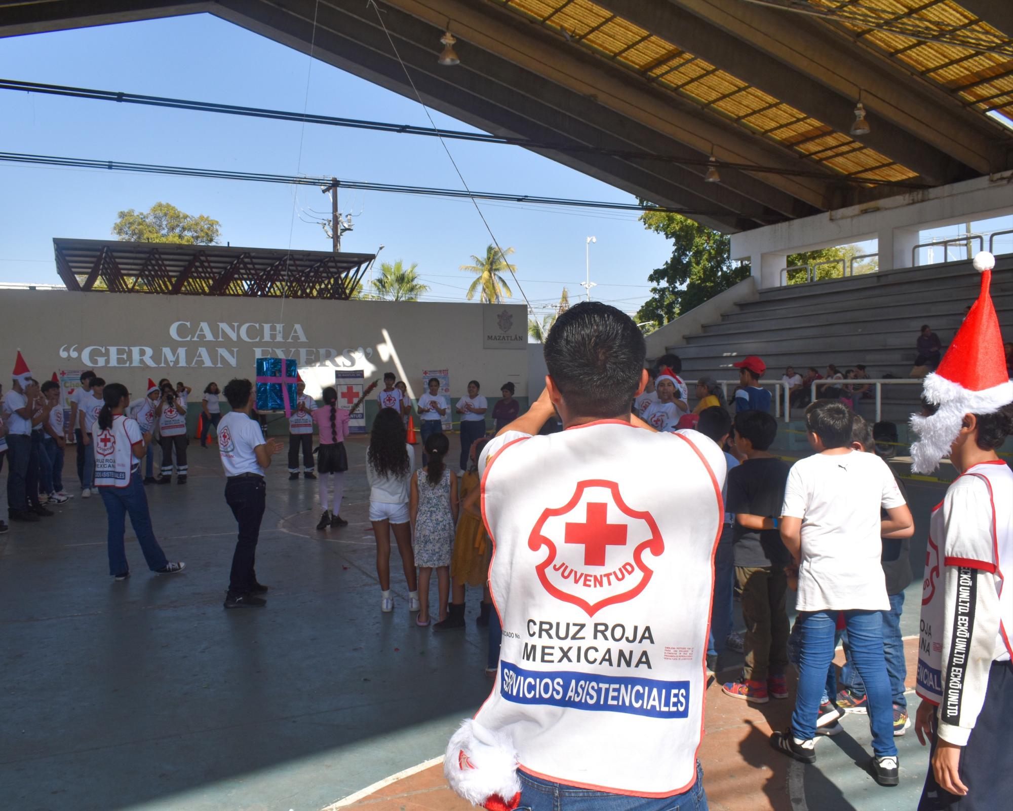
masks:
{"label": "tall red santa hat with white beard on person at right edge", "polygon": [[918,441],[911,446],[911,469],[929,473],[949,453],[965,414],[994,414],[1013,402],[1013,381],[1006,372],[1006,355],[999,318],[989,294],[996,257],[983,250],[975,256],[982,290],[950,342],[939,367],[925,378],[922,397],[936,408],[930,417],[912,415]]}

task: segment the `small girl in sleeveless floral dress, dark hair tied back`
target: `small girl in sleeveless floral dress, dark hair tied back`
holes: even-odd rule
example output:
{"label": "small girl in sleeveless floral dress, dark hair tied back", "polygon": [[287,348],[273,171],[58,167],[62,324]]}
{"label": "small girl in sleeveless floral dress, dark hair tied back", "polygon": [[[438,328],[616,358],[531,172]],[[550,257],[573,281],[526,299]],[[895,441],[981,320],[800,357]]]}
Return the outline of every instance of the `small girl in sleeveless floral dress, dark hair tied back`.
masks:
{"label": "small girl in sleeveless floral dress, dark hair tied back", "polygon": [[[457,523],[457,475],[447,468],[445,457],[450,450],[446,434],[425,438],[428,464],[411,477],[411,544],[418,567],[418,616],[415,623],[430,624],[430,578],[437,570],[440,594],[440,619],[447,618],[450,596],[450,559],[454,549],[454,525]],[[463,606],[462,606],[463,607]]]}

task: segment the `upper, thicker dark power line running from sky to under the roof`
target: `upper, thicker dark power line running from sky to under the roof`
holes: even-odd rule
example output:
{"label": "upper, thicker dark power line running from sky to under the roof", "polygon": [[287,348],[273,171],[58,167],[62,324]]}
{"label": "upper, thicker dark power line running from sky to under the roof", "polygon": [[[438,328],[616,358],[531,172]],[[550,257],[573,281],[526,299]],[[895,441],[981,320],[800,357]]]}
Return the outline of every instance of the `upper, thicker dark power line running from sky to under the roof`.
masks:
{"label": "upper, thicker dark power line running from sky to under the roof", "polygon": [[157,107],[172,107],[176,109],[191,109],[199,113],[218,113],[229,116],[246,116],[257,119],[274,119],[276,121],[295,121],[304,124],[320,124],[330,127],[347,127],[358,130],[374,130],[396,135],[417,135],[432,138],[445,138],[458,141],[474,141],[483,144],[499,144],[503,146],[519,146],[532,150],[552,150],[571,154],[594,154],[615,157],[623,160],[644,160],[660,163],[674,163],[679,166],[715,165],[719,169],[737,169],[755,174],[779,174],[790,177],[811,177],[820,180],[856,183],[858,186],[886,186],[903,189],[924,189],[925,183],[912,180],[883,180],[875,177],[863,177],[861,174],[843,175],[815,169],[788,169],[778,166],[762,166],[753,163],[734,163],[712,158],[694,158],[685,155],[664,155],[654,152],[644,152],[634,149],[609,149],[606,147],[589,146],[585,144],[564,143],[558,141],[538,141],[528,138],[512,138],[510,136],[491,135],[489,133],[467,132],[464,130],[444,130],[434,127],[419,127],[414,124],[394,124],[390,122],[369,121],[367,119],[346,119],[337,116],[321,116],[314,113],[295,113],[292,110],[270,109],[266,107],[251,107],[238,104],[223,104],[217,101],[194,101],[187,98],[170,96],[142,95],[116,90],[96,90],[90,87],[73,87],[60,84],[45,84],[42,82],[25,82],[19,79],[0,79],[0,90],[15,90],[21,92],[45,93],[48,95],[87,98],[96,101],[115,101],[127,104],[145,104]]}

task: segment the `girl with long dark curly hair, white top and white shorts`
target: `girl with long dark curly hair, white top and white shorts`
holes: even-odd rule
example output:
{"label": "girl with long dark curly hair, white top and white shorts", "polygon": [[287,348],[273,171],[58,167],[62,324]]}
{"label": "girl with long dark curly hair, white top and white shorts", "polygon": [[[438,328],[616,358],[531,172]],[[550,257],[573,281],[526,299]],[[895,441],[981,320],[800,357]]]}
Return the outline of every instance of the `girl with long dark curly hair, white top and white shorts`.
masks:
{"label": "girl with long dark curly hair, white top and white shorts", "polygon": [[373,422],[370,448],[366,453],[366,481],[370,485],[370,521],[377,539],[377,577],[380,579],[380,609],[394,610],[390,591],[390,532],[394,530],[401,555],[404,578],[408,581],[408,610],[418,610],[415,558],[411,551],[411,524],[408,498],[414,449],[407,444],[401,415],[381,409]]}

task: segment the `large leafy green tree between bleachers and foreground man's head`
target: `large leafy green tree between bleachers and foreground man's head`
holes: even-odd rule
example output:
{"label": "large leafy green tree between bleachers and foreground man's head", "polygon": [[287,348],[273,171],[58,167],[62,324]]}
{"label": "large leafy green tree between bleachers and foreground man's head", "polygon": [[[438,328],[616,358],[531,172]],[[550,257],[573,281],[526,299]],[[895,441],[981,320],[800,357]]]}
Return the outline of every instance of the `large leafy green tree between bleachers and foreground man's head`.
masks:
{"label": "large leafy green tree between bleachers and foreground man's head", "polygon": [[679,214],[647,211],[644,227],[673,241],[672,256],[647,277],[650,298],[637,311],[637,322],[668,323],[703,304],[750,275],[749,265],[733,265],[731,240]]}

